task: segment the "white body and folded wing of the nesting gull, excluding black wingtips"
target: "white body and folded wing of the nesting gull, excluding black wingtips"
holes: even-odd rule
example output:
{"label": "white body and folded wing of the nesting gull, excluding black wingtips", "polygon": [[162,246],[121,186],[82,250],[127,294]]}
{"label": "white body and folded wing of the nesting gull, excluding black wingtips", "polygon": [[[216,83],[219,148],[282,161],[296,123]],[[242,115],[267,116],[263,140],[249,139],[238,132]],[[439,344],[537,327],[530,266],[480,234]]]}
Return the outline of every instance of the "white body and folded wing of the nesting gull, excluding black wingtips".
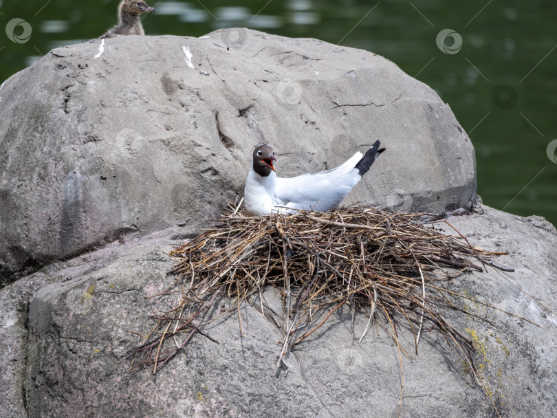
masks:
{"label": "white body and folded wing of the nesting gull, excluding black wingtips", "polygon": [[325,212],[338,205],[362,178],[355,168],[362,158],[358,152],[342,166],[316,174],[276,178],[276,204],[293,209]]}

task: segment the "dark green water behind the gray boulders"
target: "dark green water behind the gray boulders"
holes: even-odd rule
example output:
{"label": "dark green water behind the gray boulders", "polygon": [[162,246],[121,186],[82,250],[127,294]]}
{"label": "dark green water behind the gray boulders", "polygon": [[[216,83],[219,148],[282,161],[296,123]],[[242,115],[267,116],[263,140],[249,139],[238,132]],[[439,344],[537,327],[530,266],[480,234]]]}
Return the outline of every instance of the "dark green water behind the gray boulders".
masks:
{"label": "dark green water behind the gray boulders", "polygon": [[[0,32],[0,81],[54,47],[99,36],[116,23],[117,3],[0,0],[0,27],[8,25]],[[151,35],[201,36],[234,25],[389,58],[450,104],[476,148],[484,203],[557,224],[555,0],[148,3],[157,8],[143,20]],[[9,30],[15,18],[32,31],[25,39],[25,23],[17,26],[20,43]],[[438,46],[444,29],[456,34]]]}

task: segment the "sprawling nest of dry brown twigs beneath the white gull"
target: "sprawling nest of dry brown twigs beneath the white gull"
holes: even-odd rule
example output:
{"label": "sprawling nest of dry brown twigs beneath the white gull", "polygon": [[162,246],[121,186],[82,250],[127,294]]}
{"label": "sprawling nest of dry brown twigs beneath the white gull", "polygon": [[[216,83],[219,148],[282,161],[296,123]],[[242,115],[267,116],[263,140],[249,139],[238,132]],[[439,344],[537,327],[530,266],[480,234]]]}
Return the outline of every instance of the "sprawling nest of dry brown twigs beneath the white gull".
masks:
{"label": "sprawling nest of dry brown twigs beneath the white gull", "polygon": [[448,221],[424,214],[366,207],[263,217],[234,212],[171,252],[177,264],[168,273],[175,274],[175,283],[149,298],[173,296],[177,303],[166,311],[153,310],[155,326],[144,344],[129,352],[131,370],[152,367],[156,373],[195,333],[213,340],[203,327],[216,319],[206,316],[217,296],[232,300],[223,314],[237,311],[241,330],[241,303],[251,303],[254,296],[263,301],[263,289],[272,285],[283,295],[282,317],[276,318],[263,302],[254,307],[283,331],[277,367],[287,351],[336,309],[349,305],[369,317],[360,341],[375,322],[400,353],[411,357],[398,341],[397,322],[409,325],[416,353],[422,329],[433,327],[482,384],[472,341],[444,315],[448,309],[472,315],[462,302],[474,299],[450,291],[446,282],[463,272],[481,272],[487,265],[512,271],[494,261],[503,254],[507,252],[472,247]]}

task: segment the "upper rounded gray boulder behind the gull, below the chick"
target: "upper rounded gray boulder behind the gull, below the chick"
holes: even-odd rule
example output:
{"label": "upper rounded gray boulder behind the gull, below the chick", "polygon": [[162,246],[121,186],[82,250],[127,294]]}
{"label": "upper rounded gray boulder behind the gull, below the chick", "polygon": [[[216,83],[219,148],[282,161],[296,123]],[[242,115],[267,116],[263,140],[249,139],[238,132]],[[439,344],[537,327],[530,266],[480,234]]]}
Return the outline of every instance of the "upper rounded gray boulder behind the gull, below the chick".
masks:
{"label": "upper rounded gray boulder behind the gull, below the chick", "polygon": [[260,141],[287,177],[381,140],[348,203],[441,212],[475,197],[450,108],[381,56],[252,30],[102,47],[52,50],[0,89],[4,280],[129,232],[197,231],[239,200]]}

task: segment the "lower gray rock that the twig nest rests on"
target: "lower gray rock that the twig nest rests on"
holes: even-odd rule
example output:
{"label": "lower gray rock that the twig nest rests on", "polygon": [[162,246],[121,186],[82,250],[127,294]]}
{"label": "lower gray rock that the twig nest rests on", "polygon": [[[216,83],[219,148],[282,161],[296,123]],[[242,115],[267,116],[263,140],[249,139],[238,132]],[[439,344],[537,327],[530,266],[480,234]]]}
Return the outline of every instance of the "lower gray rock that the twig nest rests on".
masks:
{"label": "lower gray rock that the twig nest rests on", "polygon": [[[474,272],[448,285],[539,327],[472,302],[466,304],[470,314],[491,325],[472,315],[452,320],[476,342],[477,365],[483,365],[501,416],[557,416],[556,230],[538,217],[479,210],[483,213],[448,221],[472,245],[510,251],[498,261],[516,272]],[[168,231],[137,234],[51,265],[0,292],[0,318],[8,318],[1,328],[4,347],[12,347],[10,356],[0,356],[0,368],[19,365],[4,379],[3,393],[11,391],[0,398],[0,417],[398,416],[397,349],[384,331],[369,333],[361,344],[356,340],[351,349],[349,309],[336,312],[329,326],[287,357],[287,373],[274,367],[281,332],[243,305],[244,338],[237,316],[221,318],[205,329],[219,344],[195,338],[156,379],[149,371],[130,375],[126,352],[140,339],[127,330],[150,329],[150,302],[144,296],[173,281],[165,274],[172,265],[165,252],[179,240],[168,236]],[[17,303],[4,308],[13,297],[23,303],[25,289],[32,287],[41,289],[30,309],[16,309]],[[265,297],[267,303],[281,303],[272,290]],[[366,322],[356,315],[356,335]],[[411,332],[399,331],[406,347],[413,347]],[[459,355],[437,331],[424,333],[419,355],[403,358],[403,367],[402,417],[494,416],[483,388],[474,386]]]}

